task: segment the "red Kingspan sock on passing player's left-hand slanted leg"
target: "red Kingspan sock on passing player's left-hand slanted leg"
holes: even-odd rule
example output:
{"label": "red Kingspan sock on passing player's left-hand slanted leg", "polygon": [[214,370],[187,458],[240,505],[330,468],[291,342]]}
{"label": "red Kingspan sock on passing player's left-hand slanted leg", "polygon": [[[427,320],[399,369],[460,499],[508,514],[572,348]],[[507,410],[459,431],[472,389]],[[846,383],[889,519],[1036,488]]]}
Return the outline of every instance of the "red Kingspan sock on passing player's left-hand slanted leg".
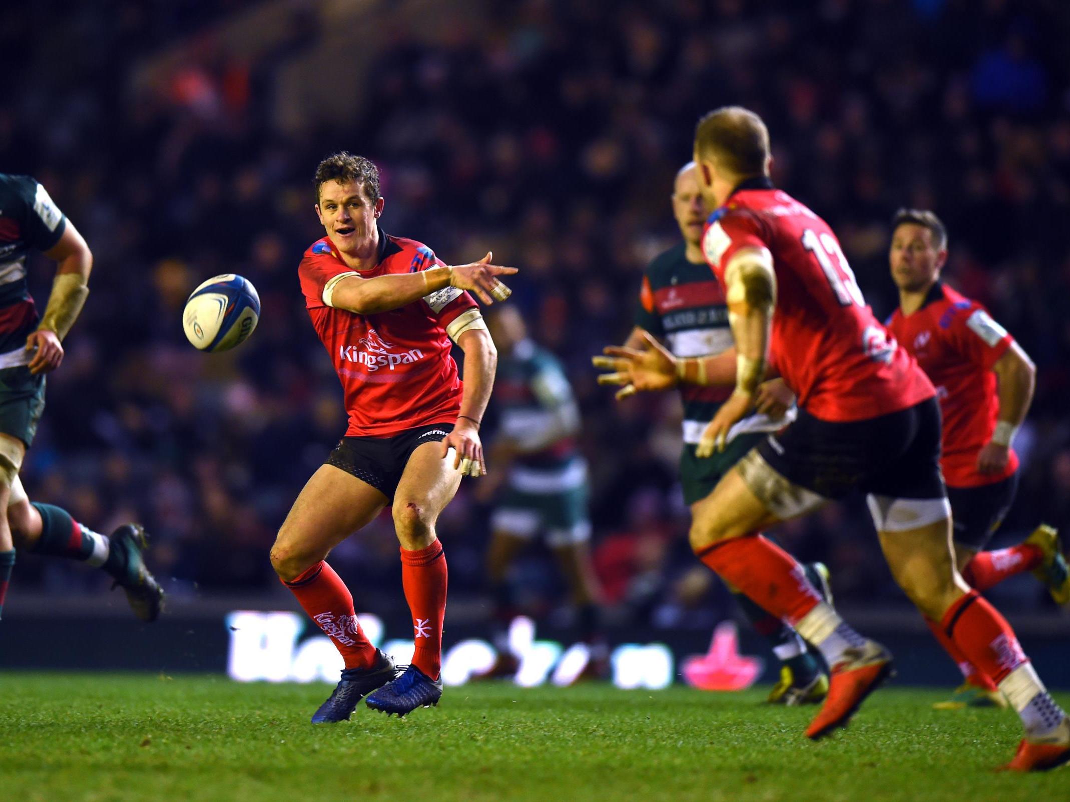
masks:
{"label": "red Kingspan sock on passing player's left-hand slanted leg", "polygon": [[319,624],[341,653],[347,668],[365,668],[376,659],[376,647],[364,634],[353,612],[353,597],[346,583],[322,560],[296,576],[282,581],[297,603]]}

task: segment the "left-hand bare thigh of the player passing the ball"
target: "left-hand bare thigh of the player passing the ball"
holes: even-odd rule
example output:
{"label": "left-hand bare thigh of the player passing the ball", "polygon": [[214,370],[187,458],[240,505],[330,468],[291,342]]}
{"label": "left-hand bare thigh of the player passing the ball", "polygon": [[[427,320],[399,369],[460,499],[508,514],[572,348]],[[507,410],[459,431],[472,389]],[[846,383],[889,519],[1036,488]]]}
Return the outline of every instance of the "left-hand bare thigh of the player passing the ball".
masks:
{"label": "left-hand bare thigh of the player passing the ball", "polygon": [[374,519],[387,500],[355,476],[334,465],[320,465],[275,538],[271,550],[275,572],[287,581],[299,576]]}

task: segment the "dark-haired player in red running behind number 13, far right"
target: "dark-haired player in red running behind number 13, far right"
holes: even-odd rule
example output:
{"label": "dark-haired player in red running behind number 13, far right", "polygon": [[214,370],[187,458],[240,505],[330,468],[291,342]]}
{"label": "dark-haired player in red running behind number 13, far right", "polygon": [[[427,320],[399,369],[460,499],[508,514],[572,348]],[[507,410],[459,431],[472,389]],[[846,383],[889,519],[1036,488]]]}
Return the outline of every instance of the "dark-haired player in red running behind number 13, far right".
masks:
{"label": "dark-haired player in red running behind number 13, far right", "polygon": [[[999,528],[1018,489],[1018,456],[1011,446],[1033,398],[1036,369],[1014,338],[977,302],[941,281],[947,262],[947,229],[930,211],[900,210],[888,252],[899,308],[888,330],[936,386],[944,419],[941,469],[951,504],[954,556],[976,590],[1033,571],[1059,604],[1070,601],[1070,573],[1058,536],[1039,526],[1025,542],[983,551]],[[965,678],[937,709],[1004,707],[995,683],[926,619]]]}

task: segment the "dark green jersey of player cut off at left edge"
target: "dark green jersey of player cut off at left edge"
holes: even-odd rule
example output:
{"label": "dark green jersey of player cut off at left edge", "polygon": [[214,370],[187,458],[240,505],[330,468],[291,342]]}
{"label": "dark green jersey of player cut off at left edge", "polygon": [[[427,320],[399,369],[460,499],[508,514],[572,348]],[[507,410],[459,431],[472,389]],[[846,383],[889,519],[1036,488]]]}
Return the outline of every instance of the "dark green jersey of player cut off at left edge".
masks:
{"label": "dark green jersey of player cut off at left edge", "polygon": [[65,228],[66,217],[41,184],[29,175],[0,173],[0,354],[24,348],[37,327],[26,286],[27,255],[50,250]]}

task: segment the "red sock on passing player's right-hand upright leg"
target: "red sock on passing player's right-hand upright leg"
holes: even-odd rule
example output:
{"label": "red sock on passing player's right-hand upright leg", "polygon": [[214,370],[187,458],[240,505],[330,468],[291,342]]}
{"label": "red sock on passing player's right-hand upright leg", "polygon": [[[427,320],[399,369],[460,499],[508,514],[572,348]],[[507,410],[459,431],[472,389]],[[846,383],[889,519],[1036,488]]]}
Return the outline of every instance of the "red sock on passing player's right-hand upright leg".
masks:
{"label": "red sock on passing player's right-hand upright leg", "polygon": [[446,555],[435,539],[426,549],[401,550],[401,586],[412,613],[412,664],[431,679],[442,667],[442,622],[446,617]]}

